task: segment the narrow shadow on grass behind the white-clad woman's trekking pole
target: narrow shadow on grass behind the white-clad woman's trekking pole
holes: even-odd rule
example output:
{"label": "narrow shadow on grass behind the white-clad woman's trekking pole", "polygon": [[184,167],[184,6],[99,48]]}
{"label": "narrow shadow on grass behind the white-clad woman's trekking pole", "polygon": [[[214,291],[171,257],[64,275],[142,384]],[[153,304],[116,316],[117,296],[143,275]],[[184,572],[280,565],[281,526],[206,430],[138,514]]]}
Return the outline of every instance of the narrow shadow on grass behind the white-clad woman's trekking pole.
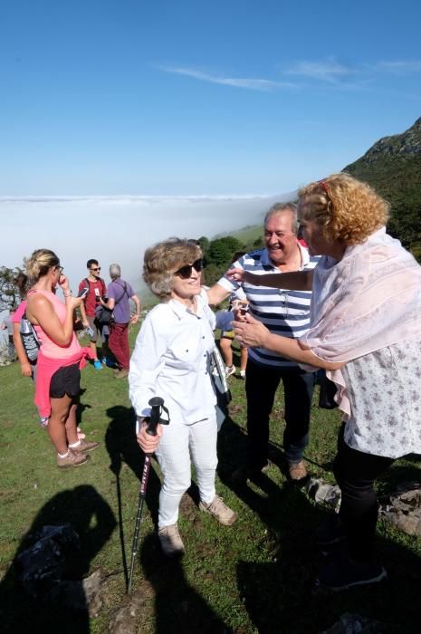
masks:
{"label": "narrow shadow on grass behind the white-clad woman's trekking pole", "polygon": [[[121,504],[121,484],[120,473],[123,464],[129,466],[135,476],[139,479],[142,477],[144,464],[144,454],[142,453],[135,435],[135,413],[132,408],[125,408],[122,405],[116,405],[107,409],[107,415],[111,419],[110,425],[107,427],[105,434],[105,445],[110,456],[110,470],[116,476],[116,494],[119,508],[119,533],[121,546],[121,559],[123,562],[124,579],[126,587],[129,582],[129,569],[126,556],[126,536],[124,534],[124,522]],[[158,524],[158,495],[160,489],[160,480],[151,465],[148,476],[148,488],[146,492],[146,504],[152,521]],[[124,495],[124,494],[123,494]],[[133,504],[139,504],[133,500]],[[133,526],[134,531],[134,526]],[[129,535],[129,539],[132,535]],[[130,542],[131,543],[131,542]]]}

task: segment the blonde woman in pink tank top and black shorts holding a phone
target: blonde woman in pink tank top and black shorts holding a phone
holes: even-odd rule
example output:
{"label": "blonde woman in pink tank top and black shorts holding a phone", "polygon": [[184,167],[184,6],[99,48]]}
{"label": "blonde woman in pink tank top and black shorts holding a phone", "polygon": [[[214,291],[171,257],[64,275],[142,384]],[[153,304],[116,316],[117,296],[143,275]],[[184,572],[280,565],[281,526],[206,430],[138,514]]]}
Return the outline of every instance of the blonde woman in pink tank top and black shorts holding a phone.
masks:
{"label": "blonde woman in pink tank top and black shorts holding a phone", "polygon": [[[26,316],[41,342],[35,405],[41,416],[49,417],[48,433],[57,451],[57,466],[81,466],[88,461],[86,453],[98,447],[98,443],[80,440],[77,434],[80,369],[88,350],[81,348],[73,332],[73,312],[82,300],[72,296],[53,251],[34,251],[26,261],[26,272],[33,280]],[[64,303],[52,291],[57,287],[62,289]]]}

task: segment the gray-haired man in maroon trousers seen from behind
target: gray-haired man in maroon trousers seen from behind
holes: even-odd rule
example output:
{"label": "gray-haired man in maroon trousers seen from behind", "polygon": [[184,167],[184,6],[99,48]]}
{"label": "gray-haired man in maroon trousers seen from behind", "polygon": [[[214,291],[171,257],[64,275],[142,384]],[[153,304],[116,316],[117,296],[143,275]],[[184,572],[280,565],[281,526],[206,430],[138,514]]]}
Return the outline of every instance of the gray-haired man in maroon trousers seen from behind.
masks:
{"label": "gray-haired man in maroon trousers seen from behind", "polygon": [[[140,301],[128,282],[121,279],[120,264],[110,264],[111,283],[107,288],[107,308],[112,311],[110,321],[110,351],[119,364],[114,370],[116,379],[124,379],[129,374],[129,323],[137,323],[140,316]],[[136,312],[130,317],[129,300],[136,305]]]}

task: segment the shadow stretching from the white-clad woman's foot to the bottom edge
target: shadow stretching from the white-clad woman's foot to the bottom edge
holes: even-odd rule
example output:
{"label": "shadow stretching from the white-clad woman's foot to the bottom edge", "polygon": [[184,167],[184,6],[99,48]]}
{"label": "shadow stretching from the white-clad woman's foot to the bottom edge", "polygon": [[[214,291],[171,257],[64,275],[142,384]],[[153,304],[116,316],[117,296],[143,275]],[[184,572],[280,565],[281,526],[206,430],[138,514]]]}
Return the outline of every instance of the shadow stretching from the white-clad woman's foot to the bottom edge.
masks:
{"label": "shadow stretching from the white-clad woman's foot to the bottom edge", "polygon": [[229,634],[224,621],[188,583],[181,560],[162,554],[158,539],[148,534],[140,552],[147,581],[155,591],[157,634]]}

